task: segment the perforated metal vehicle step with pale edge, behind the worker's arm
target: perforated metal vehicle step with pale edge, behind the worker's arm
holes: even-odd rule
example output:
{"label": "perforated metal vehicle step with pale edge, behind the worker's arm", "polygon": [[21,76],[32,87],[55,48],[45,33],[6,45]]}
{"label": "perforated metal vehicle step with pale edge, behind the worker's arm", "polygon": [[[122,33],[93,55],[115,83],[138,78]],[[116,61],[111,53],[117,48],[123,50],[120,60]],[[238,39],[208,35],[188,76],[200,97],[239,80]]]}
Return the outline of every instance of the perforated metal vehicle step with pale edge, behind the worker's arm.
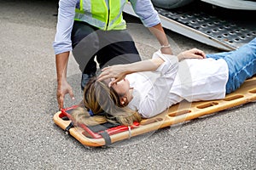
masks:
{"label": "perforated metal vehicle step with pale edge, behind the worker's arm", "polygon": [[[225,51],[239,48],[256,37],[256,22],[244,23],[242,20],[243,23],[240,24],[234,20],[223,20],[195,7],[194,10],[193,8],[171,10],[157,7],[155,9],[160,14],[164,28]],[[124,12],[137,16],[131,3],[125,5]]]}

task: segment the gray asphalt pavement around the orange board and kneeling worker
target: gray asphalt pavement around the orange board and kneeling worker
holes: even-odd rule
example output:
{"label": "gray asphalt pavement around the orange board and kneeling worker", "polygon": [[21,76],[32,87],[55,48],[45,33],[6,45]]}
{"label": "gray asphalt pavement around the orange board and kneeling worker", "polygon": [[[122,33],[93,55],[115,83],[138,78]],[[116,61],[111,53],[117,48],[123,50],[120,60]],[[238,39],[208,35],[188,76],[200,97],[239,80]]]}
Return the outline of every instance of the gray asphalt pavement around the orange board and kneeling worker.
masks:
{"label": "gray asphalt pavement around the orange board and kneeling worker", "polygon": [[[0,169],[255,169],[256,103],[160,129],[109,148],[89,148],[52,118],[55,99],[55,1],[0,0]],[[127,16],[126,16],[127,17]],[[138,20],[127,17],[143,59],[159,48]],[[175,54],[218,49],[166,31]],[[73,57],[68,81],[77,104],[80,72]]]}

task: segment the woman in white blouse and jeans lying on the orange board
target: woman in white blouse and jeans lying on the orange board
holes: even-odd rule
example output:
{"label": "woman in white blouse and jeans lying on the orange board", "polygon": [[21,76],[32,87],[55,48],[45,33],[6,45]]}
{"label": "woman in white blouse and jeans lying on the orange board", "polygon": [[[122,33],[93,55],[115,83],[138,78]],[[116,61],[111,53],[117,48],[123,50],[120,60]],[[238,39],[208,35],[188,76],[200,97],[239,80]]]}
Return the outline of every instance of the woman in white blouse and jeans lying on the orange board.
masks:
{"label": "woman in white blouse and jeans lying on the orange board", "polygon": [[224,99],[256,74],[256,38],[234,51],[204,54],[193,48],[177,56],[155,52],[152,59],[102,69],[84,88],[75,122],[129,126],[160,114],[183,99]]}

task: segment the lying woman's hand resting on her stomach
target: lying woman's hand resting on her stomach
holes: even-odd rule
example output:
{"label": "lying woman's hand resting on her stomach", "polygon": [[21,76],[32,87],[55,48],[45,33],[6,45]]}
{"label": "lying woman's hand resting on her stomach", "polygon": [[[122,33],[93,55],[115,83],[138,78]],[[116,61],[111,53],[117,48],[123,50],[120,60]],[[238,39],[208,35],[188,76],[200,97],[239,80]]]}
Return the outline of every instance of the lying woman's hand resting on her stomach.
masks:
{"label": "lying woman's hand resting on her stomach", "polygon": [[197,48],[192,48],[177,54],[178,60],[182,59],[206,59],[206,54]]}

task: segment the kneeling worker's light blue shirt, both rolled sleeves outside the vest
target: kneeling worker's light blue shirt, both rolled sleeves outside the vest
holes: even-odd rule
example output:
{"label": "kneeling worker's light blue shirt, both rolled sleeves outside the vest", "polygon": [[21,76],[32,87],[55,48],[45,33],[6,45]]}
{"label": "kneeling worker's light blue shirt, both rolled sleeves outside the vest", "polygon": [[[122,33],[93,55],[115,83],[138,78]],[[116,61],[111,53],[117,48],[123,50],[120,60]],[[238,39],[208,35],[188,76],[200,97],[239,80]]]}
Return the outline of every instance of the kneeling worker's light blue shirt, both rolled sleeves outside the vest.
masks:
{"label": "kneeling worker's light blue shirt, both rolled sleeves outside the vest", "polygon": [[[130,2],[144,26],[152,27],[160,23],[159,15],[150,0],[130,0]],[[60,0],[59,2],[58,23],[53,42],[55,54],[72,51],[71,32],[75,8],[78,6],[79,0]]]}

